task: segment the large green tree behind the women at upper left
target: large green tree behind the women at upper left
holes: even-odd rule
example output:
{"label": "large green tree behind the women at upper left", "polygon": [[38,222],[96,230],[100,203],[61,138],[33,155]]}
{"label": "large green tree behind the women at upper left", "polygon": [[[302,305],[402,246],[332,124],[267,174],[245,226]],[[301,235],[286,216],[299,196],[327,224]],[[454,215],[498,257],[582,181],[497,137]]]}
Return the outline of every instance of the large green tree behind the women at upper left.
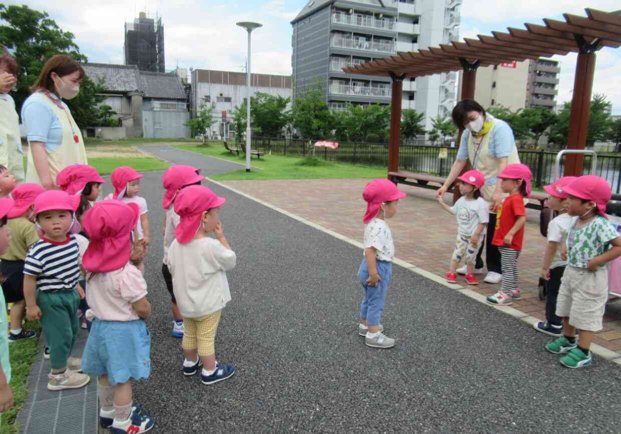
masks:
{"label": "large green tree behind the women at upper left", "polygon": [[[37,80],[43,64],[55,54],[65,54],[75,60],[86,62],[86,56],[79,52],[71,32],[65,32],[46,12],[35,11],[28,6],[4,6],[0,3],[0,44],[12,51],[19,73],[17,90],[12,92],[17,112],[30,95],[29,87]],[[75,99],[67,101],[73,118],[82,128],[97,123],[97,105],[105,97],[101,84],[84,78],[80,92]]]}

